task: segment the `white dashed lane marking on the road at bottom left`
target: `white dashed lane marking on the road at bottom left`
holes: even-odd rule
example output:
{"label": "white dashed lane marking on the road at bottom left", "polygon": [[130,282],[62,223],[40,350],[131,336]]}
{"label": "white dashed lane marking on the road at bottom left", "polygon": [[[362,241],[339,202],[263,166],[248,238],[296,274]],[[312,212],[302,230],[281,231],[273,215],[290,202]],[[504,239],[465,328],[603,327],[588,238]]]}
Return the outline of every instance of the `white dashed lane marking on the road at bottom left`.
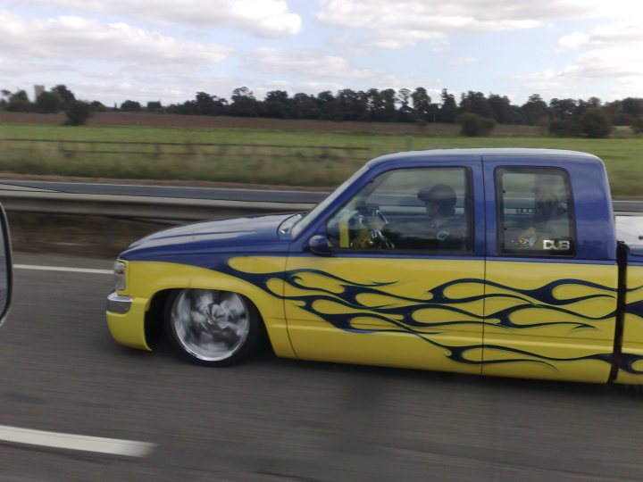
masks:
{"label": "white dashed lane marking on the road at bottom left", "polygon": [[0,440],[14,444],[39,445],[84,452],[111,453],[128,457],[146,457],[156,444],[133,442],[117,438],[78,436],[59,432],[45,432],[0,425]]}

